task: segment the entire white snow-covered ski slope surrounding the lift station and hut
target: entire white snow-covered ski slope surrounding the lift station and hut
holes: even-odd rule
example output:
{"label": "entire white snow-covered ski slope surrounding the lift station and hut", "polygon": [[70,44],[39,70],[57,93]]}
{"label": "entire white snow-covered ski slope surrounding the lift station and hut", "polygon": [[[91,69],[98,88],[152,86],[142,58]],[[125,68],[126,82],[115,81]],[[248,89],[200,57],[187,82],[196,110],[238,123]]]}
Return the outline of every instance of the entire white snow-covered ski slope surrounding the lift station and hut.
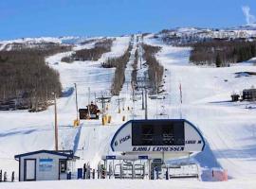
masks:
{"label": "entire white snow-covered ski slope surrounding the lift station and hut", "polygon": [[[256,67],[250,63],[233,64],[229,68],[198,67],[189,63],[190,48],[165,45],[148,36],[144,43],[159,45],[161,51],[156,55],[157,60],[167,69],[165,71],[166,98],[161,100],[149,99],[149,118],[155,118],[159,112],[169,115],[169,118],[186,118],[196,125],[208,142],[205,152],[194,157],[202,167],[222,167],[228,170],[228,182],[199,182],[197,180],[148,180],[120,181],[44,181],[38,183],[7,183],[0,188],[82,188],[84,185],[98,188],[253,188],[256,185],[256,107],[249,102],[230,103],[232,92],[241,92],[250,88],[256,77],[235,77],[236,72],[253,71]],[[136,39],[136,37],[135,37]],[[107,94],[111,87],[115,68],[101,68],[101,62],[108,57],[119,56],[128,48],[130,37],[118,37],[114,41],[111,52],[102,56],[99,61],[61,62],[64,56],[73,51],[60,53],[46,59],[50,66],[58,70],[65,89],[70,89],[77,83],[79,107],[84,108],[88,103],[88,88],[90,100],[94,94]],[[91,48],[88,43],[75,48]],[[132,56],[137,48],[135,41]],[[132,57],[131,56],[131,57]],[[118,112],[118,96],[112,97],[108,114],[112,115],[112,123],[101,126],[101,120],[82,121],[82,126],[73,128],[76,118],[75,94],[58,99],[58,120],[60,126],[60,146],[63,149],[74,149],[81,157],[77,164],[90,162],[95,167],[101,161],[101,155],[111,154],[110,140],[119,126],[124,115],[127,119],[143,118],[141,100],[136,103],[131,99],[131,72],[133,59],[127,64],[125,84],[120,97],[125,97],[121,103],[124,111]],[[144,68],[143,68],[144,69]],[[138,71],[142,74],[142,71]],[[182,86],[182,105],[180,104],[179,85]],[[127,107],[135,111],[128,111]],[[157,116],[157,118],[161,118]],[[26,111],[0,112],[0,168],[6,171],[18,170],[18,163],[13,160],[15,154],[39,149],[54,148],[54,114],[53,107],[46,112],[29,113]],[[39,182],[40,183],[40,182]],[[38,187],[38,188],[40,188]],[[256,186],[255,186],[256,188]]]}

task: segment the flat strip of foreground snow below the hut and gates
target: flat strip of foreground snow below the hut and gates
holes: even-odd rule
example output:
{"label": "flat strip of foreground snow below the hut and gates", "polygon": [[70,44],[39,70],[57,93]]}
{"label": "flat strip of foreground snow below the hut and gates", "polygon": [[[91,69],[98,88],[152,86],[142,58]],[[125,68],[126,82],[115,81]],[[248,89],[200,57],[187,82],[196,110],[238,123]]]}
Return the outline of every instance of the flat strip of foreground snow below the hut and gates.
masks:
{"label": "flat strip of foreground snow below the hut and gates", "polygon": [[229,180],[227,182],[203,182],[197,180],[58,180],[1,183],[4,189],[131,189],[131,188],[177,188],[177,189],[253,189],[254,180]]}

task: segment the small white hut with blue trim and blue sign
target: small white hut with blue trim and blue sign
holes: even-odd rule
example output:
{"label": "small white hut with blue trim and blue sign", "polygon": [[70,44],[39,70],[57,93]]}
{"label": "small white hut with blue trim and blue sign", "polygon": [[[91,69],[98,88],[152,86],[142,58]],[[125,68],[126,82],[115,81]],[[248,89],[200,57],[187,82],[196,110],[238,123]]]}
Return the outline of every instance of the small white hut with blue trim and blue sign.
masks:
{"label": "small white hut with blue trim and blue sign", "polygon": [[19,181],[67,180],[78,157],[72,150],[39,150],[15,156],[19,161]]}

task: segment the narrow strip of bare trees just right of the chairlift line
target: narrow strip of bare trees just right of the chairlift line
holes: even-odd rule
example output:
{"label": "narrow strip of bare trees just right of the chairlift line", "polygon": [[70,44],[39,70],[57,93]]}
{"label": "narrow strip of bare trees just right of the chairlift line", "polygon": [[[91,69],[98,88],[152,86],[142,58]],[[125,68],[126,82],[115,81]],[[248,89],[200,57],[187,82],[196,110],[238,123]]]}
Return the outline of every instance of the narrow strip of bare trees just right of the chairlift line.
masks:
{"label": "narrow strip of bare trees just right of the chairlift line", "polygon": [[161,49],[159,46],[152,46],[149,44],[142,44],[143,59],[148,65],[148,77],[151,86],[150,94],[159,93],[159,86],[161,85],[164,67],[155,59],[155,54]]}

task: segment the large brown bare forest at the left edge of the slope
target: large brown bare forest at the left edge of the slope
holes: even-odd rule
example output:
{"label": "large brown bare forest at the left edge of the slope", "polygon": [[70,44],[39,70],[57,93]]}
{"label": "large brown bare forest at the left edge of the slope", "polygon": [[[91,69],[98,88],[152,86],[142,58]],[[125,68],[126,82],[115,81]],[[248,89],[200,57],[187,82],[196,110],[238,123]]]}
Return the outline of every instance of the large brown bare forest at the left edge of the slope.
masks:
{"label": "large brown bare forest at the left edge of the slope", "polygon": [[[70,46],[44,43],[44,47],[0,51],[0,101],[17,99],[22,108],[38,111],[62,94],[59,73],[50,68],[46,56],[71,50]],[[1,103],[0,103],[1,104]]]}

